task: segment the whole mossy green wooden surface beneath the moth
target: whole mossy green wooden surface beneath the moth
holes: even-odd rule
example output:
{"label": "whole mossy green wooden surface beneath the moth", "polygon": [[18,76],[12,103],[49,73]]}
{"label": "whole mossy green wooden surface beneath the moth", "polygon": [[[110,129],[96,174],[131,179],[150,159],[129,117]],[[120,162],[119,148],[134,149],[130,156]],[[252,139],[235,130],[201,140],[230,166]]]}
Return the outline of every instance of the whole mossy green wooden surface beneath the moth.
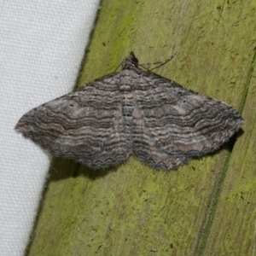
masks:
{"label": "whole mossy green wooden surface beneath the moth", "polygon": [[102,1],[78,84],[140,63],[229,103],[233,150],[170,172],[131,157],[95,172],[55,159],[27,255],[256,255],[256,1]]}

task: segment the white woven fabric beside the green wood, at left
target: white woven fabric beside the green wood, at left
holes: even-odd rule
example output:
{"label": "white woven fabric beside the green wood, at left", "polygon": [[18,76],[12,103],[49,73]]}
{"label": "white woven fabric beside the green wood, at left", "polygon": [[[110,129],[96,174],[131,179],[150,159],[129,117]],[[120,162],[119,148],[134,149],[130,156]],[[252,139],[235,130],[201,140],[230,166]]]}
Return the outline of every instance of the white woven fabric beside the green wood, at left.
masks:
{"label": "white woven fabric beside the green wood, at left", "polygon": [[73,89],[99,0],[0,3],[0,252],[23,255],[49,157],[15,132],[31,108]]}

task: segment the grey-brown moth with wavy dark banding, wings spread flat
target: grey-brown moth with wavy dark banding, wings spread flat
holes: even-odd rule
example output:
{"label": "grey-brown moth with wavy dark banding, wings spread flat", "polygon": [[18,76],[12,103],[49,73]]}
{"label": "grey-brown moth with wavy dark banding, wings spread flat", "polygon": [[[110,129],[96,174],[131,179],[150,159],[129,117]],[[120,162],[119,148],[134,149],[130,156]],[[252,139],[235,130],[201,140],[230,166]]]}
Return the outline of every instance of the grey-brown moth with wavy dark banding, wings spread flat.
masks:
{"label": "grey-brown moth with wavy dark banding, wings spread flat", "polygon": [[228,104],[144,71],[131,52],[121,71],[33,108],[15,130],[93,169],[134,154],[169,170],[217,150],[242,124]]}

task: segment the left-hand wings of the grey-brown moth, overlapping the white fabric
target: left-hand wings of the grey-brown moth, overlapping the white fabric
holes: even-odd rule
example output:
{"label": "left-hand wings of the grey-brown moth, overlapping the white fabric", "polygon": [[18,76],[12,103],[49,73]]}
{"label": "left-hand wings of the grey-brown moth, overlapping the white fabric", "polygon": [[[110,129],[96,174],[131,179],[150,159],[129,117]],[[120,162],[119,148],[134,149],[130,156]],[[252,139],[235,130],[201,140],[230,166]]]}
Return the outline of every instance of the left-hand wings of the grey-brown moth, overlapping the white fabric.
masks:
{"label": "left-hand wings of the grey-brown moth, overlapping the white fabric", "polygon": [[131,152],[125,147],[115,75],[96,79],[33,108],[15,129],[51,154],[78,160],[92,168],[119,164]]}

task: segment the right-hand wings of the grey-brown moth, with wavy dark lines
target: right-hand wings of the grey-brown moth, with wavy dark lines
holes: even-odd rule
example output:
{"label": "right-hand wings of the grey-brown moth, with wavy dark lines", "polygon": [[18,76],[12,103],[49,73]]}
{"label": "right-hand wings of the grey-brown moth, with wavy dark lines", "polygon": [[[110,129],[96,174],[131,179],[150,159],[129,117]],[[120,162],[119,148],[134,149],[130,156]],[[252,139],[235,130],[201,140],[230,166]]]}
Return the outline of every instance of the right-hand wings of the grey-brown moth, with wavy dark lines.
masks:
{"label": "right-hand wings of the grey-brown moth, with wavy dark lines", "polygon": [[137,69],[134,154],[171,169],[218,149],[242,125],[234,108]]}

